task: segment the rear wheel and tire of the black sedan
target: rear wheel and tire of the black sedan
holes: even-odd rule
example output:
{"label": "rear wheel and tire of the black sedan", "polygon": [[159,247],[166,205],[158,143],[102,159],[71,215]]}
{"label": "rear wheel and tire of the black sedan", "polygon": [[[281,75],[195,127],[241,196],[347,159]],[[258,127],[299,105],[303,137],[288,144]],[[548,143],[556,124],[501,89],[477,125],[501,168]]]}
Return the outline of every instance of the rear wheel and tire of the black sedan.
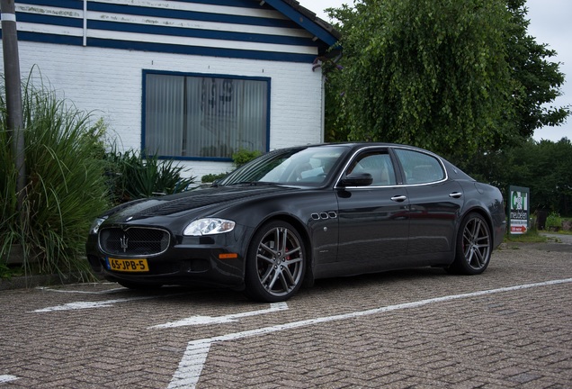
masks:
{"label": "rear wheel and tire of the black sedan", "polygon": [[487,221],[478,213],[469,213],[460,223],[455,259],[448,270],[469,276],[481,274],[488,267],[492,251]]}

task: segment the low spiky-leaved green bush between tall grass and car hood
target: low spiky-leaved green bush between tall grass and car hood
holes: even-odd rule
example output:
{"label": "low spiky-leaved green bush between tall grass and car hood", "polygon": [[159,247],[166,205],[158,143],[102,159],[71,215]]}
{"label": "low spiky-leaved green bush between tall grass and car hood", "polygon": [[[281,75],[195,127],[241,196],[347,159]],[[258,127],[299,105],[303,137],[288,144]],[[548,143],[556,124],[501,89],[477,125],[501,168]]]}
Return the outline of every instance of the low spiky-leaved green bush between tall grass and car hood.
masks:
{"label": "low spiky-leaved green bush between tall grass and car hood", "polygon": [[105,154],[105,169],[114,204],[153,195],[183,192],[195,177],[182,178],[183,167],[172,159],[160,160],[156,155],[142,158],[139,151],[123,153],[116,147]]}

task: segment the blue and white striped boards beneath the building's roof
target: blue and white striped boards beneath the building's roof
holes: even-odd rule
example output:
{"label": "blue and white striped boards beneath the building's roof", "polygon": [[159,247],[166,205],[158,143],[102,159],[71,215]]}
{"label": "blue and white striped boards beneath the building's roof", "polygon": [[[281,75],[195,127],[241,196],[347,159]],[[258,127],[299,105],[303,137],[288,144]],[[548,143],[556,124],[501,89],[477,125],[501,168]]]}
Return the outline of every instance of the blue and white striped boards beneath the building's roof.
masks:
{"label": "blue and white striped boards beneath the building's roof", "polygon": [[[266,2],[270,4],[270,2]],[[283,7],[282,1],[277,1]],[[19,39],[123,50],[312,62],[335,38],[286,5],[253,0],[27,0]],[[297,20],[297,21],[298,21]],[[310,32],[309,30],[314,30]],[[317,32],[329,42],[318,39]]]}

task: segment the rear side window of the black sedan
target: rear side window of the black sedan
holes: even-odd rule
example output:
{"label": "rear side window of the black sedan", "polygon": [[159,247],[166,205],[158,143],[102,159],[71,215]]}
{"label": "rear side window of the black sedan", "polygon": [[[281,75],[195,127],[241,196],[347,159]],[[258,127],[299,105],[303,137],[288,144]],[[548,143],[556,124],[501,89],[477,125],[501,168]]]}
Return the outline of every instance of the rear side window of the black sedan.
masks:
{"label": "rear side window of the black sedan", "polygon": [[445,178],[442,164],[437,158],[410,149],[395,149],[405,173],[406,184],[427,184]]}

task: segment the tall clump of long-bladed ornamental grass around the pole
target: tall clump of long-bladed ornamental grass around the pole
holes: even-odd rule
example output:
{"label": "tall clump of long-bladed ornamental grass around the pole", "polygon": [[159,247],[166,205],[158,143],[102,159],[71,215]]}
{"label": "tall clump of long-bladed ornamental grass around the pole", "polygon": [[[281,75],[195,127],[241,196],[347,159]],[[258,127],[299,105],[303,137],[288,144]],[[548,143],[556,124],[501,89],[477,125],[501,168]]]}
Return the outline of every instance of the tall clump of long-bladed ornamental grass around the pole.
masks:
{"label": "tall clump of long-bladed ornamental grass around the pole", "polygon": [[[2,79],[3,81],[4,79]],[[0,86],[4,96],[4,83]],[[18,210],[16,168],[0,96],[0,262],[19,244],[25,273],[89,276],[85,238],[110,206],[103,176],[103,122],[68,106],[45,86],[23,89],[26,186]],[[33,268],[32,268],[33,266]]]}

